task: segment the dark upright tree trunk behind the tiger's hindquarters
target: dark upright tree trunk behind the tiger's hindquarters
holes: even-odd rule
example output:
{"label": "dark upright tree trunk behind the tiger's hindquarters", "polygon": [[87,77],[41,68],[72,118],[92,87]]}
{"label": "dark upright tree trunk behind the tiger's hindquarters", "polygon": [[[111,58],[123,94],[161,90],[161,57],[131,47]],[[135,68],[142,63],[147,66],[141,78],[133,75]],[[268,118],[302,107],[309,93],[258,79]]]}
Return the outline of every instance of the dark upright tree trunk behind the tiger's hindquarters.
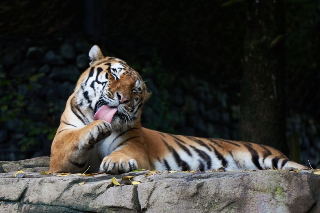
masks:
{"label": "dark upright tree trunk behind the tiger's hindquarters", "polygon": [[240,135],[288,153],[285,139],[284,5],[249,0]]}

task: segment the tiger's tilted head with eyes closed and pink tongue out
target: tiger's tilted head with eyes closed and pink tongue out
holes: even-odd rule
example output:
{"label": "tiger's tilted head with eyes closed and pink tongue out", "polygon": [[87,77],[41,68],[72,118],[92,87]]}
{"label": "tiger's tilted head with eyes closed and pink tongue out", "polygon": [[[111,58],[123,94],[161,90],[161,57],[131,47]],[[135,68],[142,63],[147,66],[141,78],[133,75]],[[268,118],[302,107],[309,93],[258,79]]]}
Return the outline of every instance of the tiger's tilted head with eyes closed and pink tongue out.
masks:
{"label": "tiger's tilted head with eyes closed and pink tongue out", "polygon": [[90,67],[77,82],[77,105],[91,120],[106,120],[118,131],[133,126],[152,92],[138,72],[119,58],[104,57],[97,45],[89,57]]}

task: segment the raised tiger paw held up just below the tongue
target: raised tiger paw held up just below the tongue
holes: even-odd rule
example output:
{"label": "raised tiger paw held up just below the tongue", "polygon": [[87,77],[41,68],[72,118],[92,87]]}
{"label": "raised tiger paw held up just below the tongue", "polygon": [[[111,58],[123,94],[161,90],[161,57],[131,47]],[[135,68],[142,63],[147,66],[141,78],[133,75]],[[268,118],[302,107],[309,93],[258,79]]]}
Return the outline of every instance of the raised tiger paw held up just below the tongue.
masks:
{"label": "raised tiger paw held up just below the tongue", "polygon": [[95,120],[90,124],[90,129],[82,140],[82,147],[85,149],[94,148],[94,144],[111,134],[111,124],[104,120]]}

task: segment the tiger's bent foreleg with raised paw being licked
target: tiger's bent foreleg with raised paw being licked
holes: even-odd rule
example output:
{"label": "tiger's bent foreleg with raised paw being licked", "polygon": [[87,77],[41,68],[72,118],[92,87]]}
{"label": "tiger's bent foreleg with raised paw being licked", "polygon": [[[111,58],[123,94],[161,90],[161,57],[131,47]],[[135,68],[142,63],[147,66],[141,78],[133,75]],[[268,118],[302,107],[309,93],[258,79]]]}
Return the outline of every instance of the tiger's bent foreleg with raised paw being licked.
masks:
{"label": "tiger's bent foreleg with raised paw being licked", "polygon": [[[94,145],[111,134],[111,125],[104,120],[96,120],[82,128],[63,131],[61,128],[63,130],[60,125],[52,142],[50,171],[77,173],[84,172],[89,166],[98,169],[100,162]],[[93,165],[94,162],[97,165]]]}

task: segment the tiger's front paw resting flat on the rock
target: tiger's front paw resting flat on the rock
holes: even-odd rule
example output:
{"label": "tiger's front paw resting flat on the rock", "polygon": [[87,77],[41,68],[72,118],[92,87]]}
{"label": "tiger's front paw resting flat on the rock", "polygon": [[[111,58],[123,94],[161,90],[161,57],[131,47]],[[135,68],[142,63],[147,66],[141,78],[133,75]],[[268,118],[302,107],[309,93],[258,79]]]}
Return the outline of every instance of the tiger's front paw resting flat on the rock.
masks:
{"label": "tiger's front paw resting flat on the rock", "polygon": [[121,174],[138,169],[137,161],[129,156],[104,157],[100,165],[100,171],[108,174]]}

